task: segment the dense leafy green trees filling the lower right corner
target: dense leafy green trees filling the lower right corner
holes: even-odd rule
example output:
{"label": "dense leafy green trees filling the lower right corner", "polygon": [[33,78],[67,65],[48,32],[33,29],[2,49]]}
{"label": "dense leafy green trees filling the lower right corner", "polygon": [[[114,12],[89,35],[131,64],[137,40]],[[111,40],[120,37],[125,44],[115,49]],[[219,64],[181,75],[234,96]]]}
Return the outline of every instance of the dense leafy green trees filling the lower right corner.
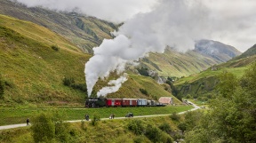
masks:
{"label": "dense leafy green trees filling the lower right corner", "polygon": [[255,69],[256,63],[245,72],[240,84],[235,75],[221,75],[222,96],[212,100],[211,110],[186,133],[187,142],[255,142]]}

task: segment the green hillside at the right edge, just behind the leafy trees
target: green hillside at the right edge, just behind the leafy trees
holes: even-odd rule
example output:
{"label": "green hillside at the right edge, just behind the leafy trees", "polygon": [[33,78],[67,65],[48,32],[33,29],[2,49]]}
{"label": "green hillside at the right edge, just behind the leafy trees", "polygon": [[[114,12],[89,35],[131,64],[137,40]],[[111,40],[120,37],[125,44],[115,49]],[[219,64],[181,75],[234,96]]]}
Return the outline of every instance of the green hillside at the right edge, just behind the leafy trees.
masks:
{"label": "green hillside at the right edge, just behind the leafy trees", "polygon": [[215,65],[212,68],[195,75],[180,78],[175,82],[179,89],[179,96],[185,98],[212,99],[217,95],[216,85],[219,83],[218,75],[224,72],[232,73],[240,78],[250,65],[256,61],[256,55],[250,57],[229,60],[226,63]]}

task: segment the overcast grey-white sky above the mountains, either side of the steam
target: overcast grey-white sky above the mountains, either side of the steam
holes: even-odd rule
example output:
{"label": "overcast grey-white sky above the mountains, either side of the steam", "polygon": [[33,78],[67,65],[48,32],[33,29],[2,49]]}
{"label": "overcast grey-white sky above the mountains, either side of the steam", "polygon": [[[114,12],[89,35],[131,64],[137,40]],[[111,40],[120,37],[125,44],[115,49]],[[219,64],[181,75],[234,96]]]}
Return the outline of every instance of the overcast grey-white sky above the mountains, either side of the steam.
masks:
{"label": "overcast grey-white sky above the mountains, either side of the steam", "polygon": [[[240,52],[256,44],[256,1],[255,0],[17,0],[31,6],[43,6],[52,10],[73,11],[92,15],[113,22],[127,22],[126,30],[132,28],[141,13],[152,12],[152,19],[167,14],[168,25],[161,25],[170,33],[166,38],[173,44],[191,46],[198,38],[212,39],[235,46]],[[180,6],[180,2],[186,6]],[[171,5],[172,4],[172,5]],[[176,5],[177,4],[177,5]],[[166,8],[167,7],[167,8]],[[163,8],[161,11],[159,8]],[[159,14],[159,15],[157,15]],[[162,14],[162,15],[161,15]],[[150,18],[150,16],[148,16]],[[140,20],[140,19],[139,19]],[[143,19],[144,20],[144,19]],[[148,19],[147,19],[148,20]],[[132,22],[130,22],[132,21]],[[148,21],[143,24],[147,25]],[[124,33],[129,33],[125,31]],[[161,33],[164,36],[164,32]],[[175,35],[175,36],[172,36]],[[167,37],[168,36],[168,37]],[[179,37],[179,38],[177,38]],[[185,38],[185,42],[180,40]],[[187,39],[187,40],[186,40]],[[188,43],[188,44],[181,44]],[[189,47],[188,49],[191,49]]]}

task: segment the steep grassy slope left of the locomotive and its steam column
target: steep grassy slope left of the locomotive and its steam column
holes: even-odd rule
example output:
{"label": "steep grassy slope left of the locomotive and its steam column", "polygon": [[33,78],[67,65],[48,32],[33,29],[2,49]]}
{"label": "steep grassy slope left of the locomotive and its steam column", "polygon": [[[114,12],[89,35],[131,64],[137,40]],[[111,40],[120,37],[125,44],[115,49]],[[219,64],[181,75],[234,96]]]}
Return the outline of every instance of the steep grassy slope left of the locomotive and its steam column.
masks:
{"label": "steep grassy slope left of the locomotive and its steam column", "polygon": [[[12,22],[18,24],[23,21]],[[56,51],[52,49],[52,44],[37,42],[2,24],[0,25],[0,74],[4,79],[4,99],[1,100],[4,105],[83,102],[81,99],[84,99],[84,92],[65,87],[62,79],[65,75],[74,75],[77,82],[84,83],[82,78],[84,63],[89,59],[89,55],[70,52],[65,46],[59,46],[60,49]],[[23,24],[28,28],[34,26],[32,23]],[[40,28],[37,32],[38,30],[40,31]],[[44,34],[47,33],[51,31],[48,30]],[[54,37],[56,36],[58,35],[55,34]],[[65,40],[62,43],[65,44]],[[61,42],[56,44],[61,45]]]}

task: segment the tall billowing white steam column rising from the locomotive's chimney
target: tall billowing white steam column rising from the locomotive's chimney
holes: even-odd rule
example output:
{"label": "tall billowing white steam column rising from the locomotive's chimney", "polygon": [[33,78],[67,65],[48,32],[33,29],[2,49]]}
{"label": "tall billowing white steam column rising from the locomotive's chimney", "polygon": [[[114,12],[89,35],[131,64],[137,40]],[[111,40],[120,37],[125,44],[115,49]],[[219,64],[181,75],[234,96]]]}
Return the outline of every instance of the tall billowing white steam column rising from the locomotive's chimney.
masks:
{"label": "tall billowing white steam column rising from the locomotive's chimney", "polygon": [[[163,4],[159,4],[154,11],[137,14],[133,19],[126,21],[115,32],[114,39],[104,39],[99,47],[93,48],[94,56],[85,64],[84,70],[88,96],[91,96],[92,88],[99,77],[108,78],[108,75],[114,71],[123,73],[128,61],[139,60],[148,52],[162,53],[166,45],[176,47],[180,51],[193,48],[194,40],[201,35],[191,32],[191,26],[188,27],[183,23],[196,23],[197,19],[192,17],[198,15],[203,18],[204,15],[200,13],[204,12],[204,7],[190,6],[185,2],[164,0]],[[180,17],[178,14],[185,16]],[[109,90],[103,88],[100,93],[106,89]]]}

